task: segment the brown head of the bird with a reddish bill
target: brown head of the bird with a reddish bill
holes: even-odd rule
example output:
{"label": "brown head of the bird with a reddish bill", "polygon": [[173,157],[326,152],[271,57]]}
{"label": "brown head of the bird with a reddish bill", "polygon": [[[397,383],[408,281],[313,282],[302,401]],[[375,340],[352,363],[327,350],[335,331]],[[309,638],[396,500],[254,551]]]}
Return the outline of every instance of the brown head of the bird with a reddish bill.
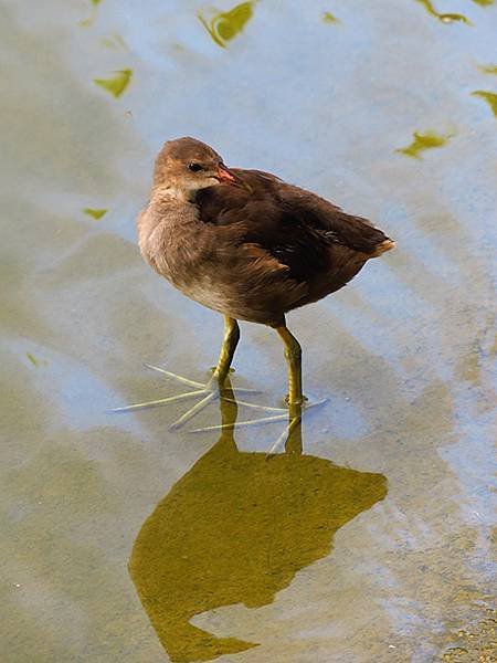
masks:
{"label": "brown head of the bird with a reddish bill", "polygon": [[167,189],[178,199],[193,200],[200,189],[236,182],[219,154],[195,138],[168,140],[156,159],[154,189]]}

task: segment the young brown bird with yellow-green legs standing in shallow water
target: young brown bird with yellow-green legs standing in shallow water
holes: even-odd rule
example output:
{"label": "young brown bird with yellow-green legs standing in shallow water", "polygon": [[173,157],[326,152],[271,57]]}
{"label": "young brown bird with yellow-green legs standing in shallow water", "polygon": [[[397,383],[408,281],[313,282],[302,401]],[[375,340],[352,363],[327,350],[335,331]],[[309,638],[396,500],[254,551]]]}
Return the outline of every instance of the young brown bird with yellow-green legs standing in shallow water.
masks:
{"label": "young brown bird with yellow-green legs standing in shallow water", "polygon": [[286,314],[340,290],[395,245],[371,221],[264,170],[229,168],[212,147],[189,136],[159,151],[137,230],[141,255],[160,276],[224,316],[211,380],[182,381],[209,401],[230,372],[239,320],[257,323],[283,341],[286,401],[296,408],[305,402],[302,348]]}

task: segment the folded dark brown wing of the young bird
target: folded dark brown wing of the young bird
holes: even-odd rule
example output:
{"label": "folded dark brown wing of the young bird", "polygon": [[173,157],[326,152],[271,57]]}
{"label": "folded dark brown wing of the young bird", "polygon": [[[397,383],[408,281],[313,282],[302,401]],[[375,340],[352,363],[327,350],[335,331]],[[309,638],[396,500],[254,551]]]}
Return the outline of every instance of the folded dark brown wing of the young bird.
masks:
{"label": "folded dark brown wing of the young bird", "polygon": [[358,252],[366,254],[366,262],[390,241],[367,219],[347,214],[276,176],[260,170],[232,171],[240,186],[221,185],[199,191],[200,219],[236,228],[241,243],[260,246],[286,265],[288,277],[297,282],[308,281],[321,271],[341,270]]}

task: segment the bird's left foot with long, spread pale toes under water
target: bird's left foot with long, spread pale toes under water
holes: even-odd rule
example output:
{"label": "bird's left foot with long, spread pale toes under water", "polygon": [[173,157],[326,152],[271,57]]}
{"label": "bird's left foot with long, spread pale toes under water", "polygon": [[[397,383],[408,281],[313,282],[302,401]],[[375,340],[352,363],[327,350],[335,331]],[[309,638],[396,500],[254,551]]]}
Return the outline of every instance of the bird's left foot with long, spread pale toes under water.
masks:
{"label": "bird's left foot with long, spread pale toes under water", "polygon": [[[200,400],[198,400],[198,402],[194,406],[192,406],[189,410],[187,410],[187,412],[181,414],[181,417],[179,419],[177,419],[173,423],[171,423],[171,425],[169,428],[171,430],[176,430],[176,429],[179,429],[182,425],[184,425],[188,421],[193,419],[193,417],[195,417],[195,414],[198,414],[204,408],[207,408],[211,402],[216,401],[220,398],[223,400],[230,400],[228,394],[258,393],[258,391],[256,389],[244,389],[244,388],[240,388],[240,387],[236,387],[234,389],[224,390],[222,387],[220,387],[215,375],[213,375],[212,378],[210,380],[208,380],[207,383],[202,383],[202,382],[197,382],[194,380],[190,380],[189,378],[184,378],[183,376],[171,372],[170,370],[166,370],[165,368],[160,368],[159,366],[154,366],[151,364],[146,364],[145,366],[147,368],[150,368],[151,370],[156,370],[156,371],[162,373],[163,376],[167,376],[168,378],[170,378],[172,380],[176,380],[178,382],[181,382],[182,385],[186,385],[187,387],[190,387],[190,389],[182,393],[177,393],[175,396],[169,396],[166,398],[160,398],[160,399],[156,399],[156,400],[151,400],[151,401],[145,401],[145,402],[140,402],[140,403],[133,403],[131,406],[125,406],[124,408],[114,408],[113,412],[136,412],[137,410],[147,410],[150,408],[158,408],[160,406],[177,403],[177,402],[180,402],[183,400],[187,401],[187,400],[191,400],[191,399],[195,399],[195,398],[200,399]],[[226,396],[224,396],[224,393],[226,393]],[[243,404],[246,404],[247,407],[254,407],[254,408],[256,407],[262,410],[269,410],[269,411],[277,410],[281,412],[285,411],[283,408],[266,408],[265,406],[255,406],[253,403],[247,403],[245,401],[237,401],[237,402],[242,402]],[[214,429],[215,429],[215,427],[214,427]],[[199,430],[201,430],[201,429],[199,429]],[[211,428],[208,427],[207,429],[203,429],[203,430],[211,430]]]}

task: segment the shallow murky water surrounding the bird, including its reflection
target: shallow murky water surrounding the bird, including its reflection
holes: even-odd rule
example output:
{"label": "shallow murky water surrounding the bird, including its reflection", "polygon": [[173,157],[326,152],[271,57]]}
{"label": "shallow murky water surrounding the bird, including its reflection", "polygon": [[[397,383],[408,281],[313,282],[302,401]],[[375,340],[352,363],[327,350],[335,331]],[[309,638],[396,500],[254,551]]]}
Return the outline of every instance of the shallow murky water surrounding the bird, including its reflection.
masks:
{"label": "shallow murky water surrounding the bird, including its reflection", "polygon": [[[0,17],[2,660],[494,660],[496,3]],[[329,402],[271,460],[281,421],[109,413],[177,390],[144,362],[201,381],[218,355],[220,316],[135,241],[155,152],[184,134],[398,241],[289,316]],[[235,367],[279,406],[272,330],[243,325]],[[213,403],[190,428],[254,415]]]}

